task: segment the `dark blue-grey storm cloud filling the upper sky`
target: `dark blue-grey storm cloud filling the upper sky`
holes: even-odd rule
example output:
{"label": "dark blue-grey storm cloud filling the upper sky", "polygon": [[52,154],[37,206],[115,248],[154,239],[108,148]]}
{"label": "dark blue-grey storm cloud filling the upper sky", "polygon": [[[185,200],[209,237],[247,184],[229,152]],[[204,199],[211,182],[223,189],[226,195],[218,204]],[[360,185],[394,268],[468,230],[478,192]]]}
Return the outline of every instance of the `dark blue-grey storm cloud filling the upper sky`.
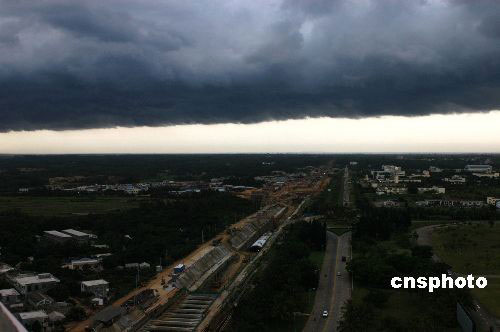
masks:
{"label": "dark blue-grey storm cloud filling the upper sky", "polygon": [[497,1],[0,0],[0,131],[500,105]]}

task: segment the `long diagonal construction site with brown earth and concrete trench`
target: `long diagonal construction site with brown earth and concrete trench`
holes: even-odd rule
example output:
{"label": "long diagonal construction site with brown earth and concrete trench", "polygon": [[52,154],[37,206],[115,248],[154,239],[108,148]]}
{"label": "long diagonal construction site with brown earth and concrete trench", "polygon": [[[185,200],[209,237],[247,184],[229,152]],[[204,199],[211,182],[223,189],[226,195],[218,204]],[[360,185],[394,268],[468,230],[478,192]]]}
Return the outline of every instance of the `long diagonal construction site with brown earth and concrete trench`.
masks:
{"label": "long diagonal construction site with brown earth and concrete trench", "polygon": [[119,317],[108,321],[91,318],[72,330],[222,331],[230,315],[228,304],[244,293],[245,284],[281,230],[300,215],[308,197],[323,190],[328,181],[326,173],[321,173],[269,191],[265,199],[269,204],[110,307],[123,307],[137,294],[153,290],[155,297],[147,306],[126,306],[126,313]]}

